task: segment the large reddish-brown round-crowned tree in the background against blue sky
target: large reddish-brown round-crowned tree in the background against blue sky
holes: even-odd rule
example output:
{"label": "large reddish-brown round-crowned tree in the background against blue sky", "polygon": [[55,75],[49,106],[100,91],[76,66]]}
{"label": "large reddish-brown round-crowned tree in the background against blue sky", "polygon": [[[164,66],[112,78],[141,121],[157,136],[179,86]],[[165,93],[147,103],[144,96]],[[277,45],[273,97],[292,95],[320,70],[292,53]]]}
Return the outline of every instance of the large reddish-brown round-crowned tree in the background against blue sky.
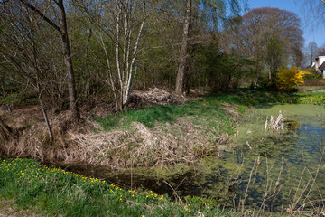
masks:
{"label": "large reddish-brown round-crowned tree in the background against blue sky", "polygon": [[224,42],[225,50],[261,62],[270,75],[292,60],[302,61],[301,20],[297,14],[278,8],[256,8],[238,17],[225,28]]}

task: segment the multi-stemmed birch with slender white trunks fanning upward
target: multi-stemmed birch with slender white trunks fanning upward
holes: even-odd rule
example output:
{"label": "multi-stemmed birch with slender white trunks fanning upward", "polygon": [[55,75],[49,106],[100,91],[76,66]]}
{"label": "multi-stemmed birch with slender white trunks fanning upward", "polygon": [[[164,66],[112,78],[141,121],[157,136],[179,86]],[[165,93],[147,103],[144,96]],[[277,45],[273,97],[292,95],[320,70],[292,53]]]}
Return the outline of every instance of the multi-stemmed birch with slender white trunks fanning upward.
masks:
{"label": "multi-stemmed birch with slender white trunks fanning upward", "polygon": [[111,88],[119,110],[126,108],[135,82],[138,53],[149,15],[146,4],[150,5],[143,0],[98,1],[97,5],[87,1],[79,3],[96,26],[94,31],[107,61],[105,82]]}

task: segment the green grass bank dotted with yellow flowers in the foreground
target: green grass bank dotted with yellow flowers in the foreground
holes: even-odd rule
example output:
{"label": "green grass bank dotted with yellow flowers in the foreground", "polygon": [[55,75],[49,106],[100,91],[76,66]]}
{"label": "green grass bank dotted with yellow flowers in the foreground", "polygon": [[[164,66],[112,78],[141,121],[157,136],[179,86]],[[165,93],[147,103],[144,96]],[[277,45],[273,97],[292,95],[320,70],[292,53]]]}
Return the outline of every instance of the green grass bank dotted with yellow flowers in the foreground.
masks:
{"label": "green grass bank dotted with yellow flowers in the foreground", "polygon": [[0,196],[47,216],[234,216],[213,201],[174,203],[153,192],[131,191],[97,178],[49,168],[29,159],[0,159]]}

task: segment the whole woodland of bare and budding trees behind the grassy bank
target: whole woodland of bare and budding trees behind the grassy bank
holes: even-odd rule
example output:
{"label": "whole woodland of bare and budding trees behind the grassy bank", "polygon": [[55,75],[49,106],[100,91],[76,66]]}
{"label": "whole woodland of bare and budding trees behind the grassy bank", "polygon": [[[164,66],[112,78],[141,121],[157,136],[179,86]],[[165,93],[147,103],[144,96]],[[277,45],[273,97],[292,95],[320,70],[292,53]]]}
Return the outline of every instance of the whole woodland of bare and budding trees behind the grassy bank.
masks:
{"label": "whole woodland of bare and budding trees behind the grassy bank", "polygon": [[[306,4],[320,21],[323,1]],[[280,67],[306,67],[297,14],[248,11],[246,1],[1,1],[0,83],[7,109],[37,99],[48,114],[109,105],[127,109],[132,90],[179,96],[239,86],[277,90]],[[244,14],[244,15],[240,15]],[[314,73],[317,77],[317,74]]]}

